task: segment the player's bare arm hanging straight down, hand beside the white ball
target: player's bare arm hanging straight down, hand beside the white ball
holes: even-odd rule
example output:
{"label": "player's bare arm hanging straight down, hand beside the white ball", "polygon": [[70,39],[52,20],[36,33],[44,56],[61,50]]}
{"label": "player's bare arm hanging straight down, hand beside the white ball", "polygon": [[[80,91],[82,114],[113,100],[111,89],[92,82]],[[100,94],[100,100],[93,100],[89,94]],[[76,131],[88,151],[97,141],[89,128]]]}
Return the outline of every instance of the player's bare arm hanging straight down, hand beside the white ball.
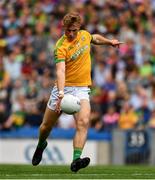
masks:
{"label": "player's bare arm hanging straight down, hand beside the white ball", "polygon": [[59,91],[59,100],[56,105],[56,112],[60,112],[60,102],[64,96],[64,86],[65,86],[65,62],[59,62],[56,64],[56,76],[57,76],[57,87]]}

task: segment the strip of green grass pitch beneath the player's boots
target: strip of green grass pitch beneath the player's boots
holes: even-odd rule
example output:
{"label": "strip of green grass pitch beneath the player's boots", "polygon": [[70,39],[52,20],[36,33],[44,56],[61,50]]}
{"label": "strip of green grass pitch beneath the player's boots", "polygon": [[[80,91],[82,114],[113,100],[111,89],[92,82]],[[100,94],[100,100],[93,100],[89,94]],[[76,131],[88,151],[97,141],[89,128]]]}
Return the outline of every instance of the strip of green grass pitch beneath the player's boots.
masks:
{"label": "strip of green grass pitch beneath the player's boots", "polygon": [[153,166],[89,166],[72,173],[69,166],[0,165],[0,179],[155,179]]}

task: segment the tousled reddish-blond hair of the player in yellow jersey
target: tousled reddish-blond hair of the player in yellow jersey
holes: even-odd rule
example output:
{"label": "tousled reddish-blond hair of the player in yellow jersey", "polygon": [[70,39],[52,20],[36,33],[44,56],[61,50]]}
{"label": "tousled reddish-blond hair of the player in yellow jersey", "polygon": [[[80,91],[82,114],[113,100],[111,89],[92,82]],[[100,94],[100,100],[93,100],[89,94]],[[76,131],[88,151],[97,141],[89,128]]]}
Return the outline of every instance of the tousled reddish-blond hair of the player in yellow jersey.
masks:
{"label": "tousled reddish-blond hair of the player in yellow jersey", "polygon": [[63,18],[63,26],[68,27],[73,24],[81,26],[81,17],[76,12],[68,13]]}

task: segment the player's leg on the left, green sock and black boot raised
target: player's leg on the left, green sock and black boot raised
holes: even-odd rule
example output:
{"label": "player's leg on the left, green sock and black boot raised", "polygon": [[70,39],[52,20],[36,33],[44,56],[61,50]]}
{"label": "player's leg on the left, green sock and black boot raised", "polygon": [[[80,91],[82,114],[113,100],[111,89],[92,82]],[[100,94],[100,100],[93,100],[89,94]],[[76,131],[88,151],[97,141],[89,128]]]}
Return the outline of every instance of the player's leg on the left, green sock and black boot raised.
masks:
{"label": "player's leg on the left, green sock and black boot raised", "polygon": [[44,118],[42,124],[40,125],[39,142],[32,158],[32,164],[34,166],[40,163],[43,151],[47,146],[46,139],[59,116],[60,114],[56,113],[54,110],[49,109],[49,107],[46,107]]}

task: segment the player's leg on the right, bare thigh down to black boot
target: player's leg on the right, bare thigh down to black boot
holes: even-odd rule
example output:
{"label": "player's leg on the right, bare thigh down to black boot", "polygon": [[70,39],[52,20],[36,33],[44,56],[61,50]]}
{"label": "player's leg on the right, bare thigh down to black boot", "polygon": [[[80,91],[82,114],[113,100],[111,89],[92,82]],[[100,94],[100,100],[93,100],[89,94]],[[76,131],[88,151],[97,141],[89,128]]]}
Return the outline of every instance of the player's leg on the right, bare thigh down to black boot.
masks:
{"label": "player's leg on the right, bare thigh down to black boot", "polygon": [[75,115],[76,120],[76,133],[73,140],[73,162],[71,164],[71,170],[77,172],[81,168],[88,166],[90,162],[89,157],[80,158],[82,150],[84,148],[87,132],[89,128],[90,117],[90,103],[88,100],[81,100],[81,110]]}

